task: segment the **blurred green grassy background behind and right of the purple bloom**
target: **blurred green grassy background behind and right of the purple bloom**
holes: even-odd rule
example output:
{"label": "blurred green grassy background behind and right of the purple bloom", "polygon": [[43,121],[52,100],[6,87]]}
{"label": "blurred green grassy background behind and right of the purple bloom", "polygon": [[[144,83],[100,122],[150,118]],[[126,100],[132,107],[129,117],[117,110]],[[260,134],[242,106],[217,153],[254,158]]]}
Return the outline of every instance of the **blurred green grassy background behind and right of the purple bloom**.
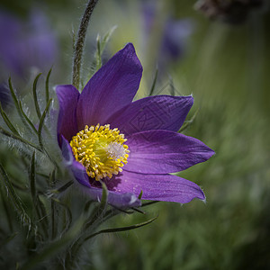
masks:
{"label": "blurred green grassy background behind and right of the purple bloom", "polygon": [[[127,226],[157,214],[158,219],[141,229],[95,238],[94,246],[85,246],[89,265],[81,269],[270,269],[269,8],[266,4],[250,12],[246,22],[232,25],[195,11],[195,1],[155,3],[157,28],[145,45],[143,1],[99,1],[85,46],[85,80],[97,33],[117,25],[104,60],[133,42],[144,67],[138,98],[149,94],[163,23],[168,16],[191,20],[193,31],[184,53],[158,73],[155,93],[193,94],[187,120],[199,112],[184,133],[202,140],[216,155],[178,175],[202,186],[207,202],[157,202],[144,209],[145,215],[117,216],[106,227]],[[34,4],[1,3],[22,18]],[[84,7],[81,0],[40,2],[60,46],[54,85],[71,82],[72,31]]]}

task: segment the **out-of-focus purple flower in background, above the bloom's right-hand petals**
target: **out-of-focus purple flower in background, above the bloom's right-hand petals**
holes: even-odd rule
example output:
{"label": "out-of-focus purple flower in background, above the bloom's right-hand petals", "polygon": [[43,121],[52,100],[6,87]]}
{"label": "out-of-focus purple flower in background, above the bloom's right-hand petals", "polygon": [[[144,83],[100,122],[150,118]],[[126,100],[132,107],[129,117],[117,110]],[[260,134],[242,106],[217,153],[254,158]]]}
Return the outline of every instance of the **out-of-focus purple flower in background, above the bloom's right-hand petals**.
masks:
{"label": "out-of-focus purple flower in background, above the bloom's right-hand petals", "polygon": [[[144,2],[142,8],[143,22],[148,42],[153,34],[159,18],[157,17],[157,2]],[[160,44],[158,49],[159,64],[165,66],[170,61],[177,61],[183,57],[186,41],[193,32],[193,21],[191,19],[175,20],[167,17],[161,31]]]}

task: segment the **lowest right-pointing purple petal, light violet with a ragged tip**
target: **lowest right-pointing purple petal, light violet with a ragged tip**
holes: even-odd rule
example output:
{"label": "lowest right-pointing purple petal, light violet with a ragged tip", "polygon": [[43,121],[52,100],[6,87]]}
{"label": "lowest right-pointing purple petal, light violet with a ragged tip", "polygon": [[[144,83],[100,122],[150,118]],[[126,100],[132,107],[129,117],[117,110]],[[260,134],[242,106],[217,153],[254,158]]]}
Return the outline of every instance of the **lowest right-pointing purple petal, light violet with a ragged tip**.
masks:
{"label": "lowest right-pointing purple petal, light violet with a ragged tip", "polygon": [[[116,176],[117,177],[117,176]],[[202,189],[193,182],[176,175],[144,175],[123,171],[115,192],[131,192],[143,200],[186,203],[194,198],[204,200]]]}

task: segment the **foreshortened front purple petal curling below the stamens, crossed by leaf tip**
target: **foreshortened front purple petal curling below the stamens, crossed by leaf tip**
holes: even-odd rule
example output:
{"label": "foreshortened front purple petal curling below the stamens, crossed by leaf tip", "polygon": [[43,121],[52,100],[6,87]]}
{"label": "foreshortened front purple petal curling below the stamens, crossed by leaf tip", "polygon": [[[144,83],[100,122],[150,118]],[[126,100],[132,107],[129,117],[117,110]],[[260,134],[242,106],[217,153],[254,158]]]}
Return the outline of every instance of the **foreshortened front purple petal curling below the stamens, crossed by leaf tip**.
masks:
{"label": "foreshortened front purple petal curling below the stamens, crossed by leaf tip", "polygon": [[[101,187],[94,187],[89,182],[89,176],[86,174],[85,166],[75,160],[72,149],[62,136],[62,154],[65,159],[66,166],[70,168],[80,188],[94,201],[101,201],[103,189]],[[137,207],[140,205],[140,200],[134,193],[115,193],[108,191],[108,203],[119,208]]]}

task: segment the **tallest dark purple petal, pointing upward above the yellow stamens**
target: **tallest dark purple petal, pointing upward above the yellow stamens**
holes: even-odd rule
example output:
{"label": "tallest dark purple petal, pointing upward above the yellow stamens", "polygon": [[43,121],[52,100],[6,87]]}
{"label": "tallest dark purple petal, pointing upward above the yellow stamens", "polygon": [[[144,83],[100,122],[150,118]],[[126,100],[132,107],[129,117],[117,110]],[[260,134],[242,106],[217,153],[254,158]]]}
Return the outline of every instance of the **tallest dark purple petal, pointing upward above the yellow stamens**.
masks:
{"label": "tallest dark purple petal, pointing upward above the yellow stamens", "polygon": [[80,95],[77,104],[79,130],[104,124],[113,112],[130,103],[139,88],[142,67],[131,43],[101,67]]}

